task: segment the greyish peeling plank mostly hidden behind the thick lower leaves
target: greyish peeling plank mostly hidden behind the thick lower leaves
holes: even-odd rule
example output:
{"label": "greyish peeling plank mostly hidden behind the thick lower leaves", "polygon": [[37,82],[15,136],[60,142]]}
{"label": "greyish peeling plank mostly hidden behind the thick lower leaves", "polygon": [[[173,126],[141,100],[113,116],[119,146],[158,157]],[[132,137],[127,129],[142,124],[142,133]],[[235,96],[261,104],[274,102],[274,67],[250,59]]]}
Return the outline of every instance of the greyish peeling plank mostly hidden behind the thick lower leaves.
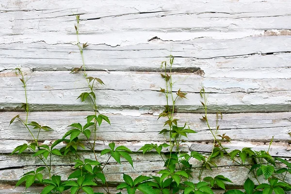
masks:
{"label": "greyish peeling plank mostly hidden behind the thick lower leaves", "polygon": [[[2,158],[3,157],[5,157],[5,155],[2,155]],[[16,181],[23,173],[31,171],[37,168],[39,165],[43,165],[41,162],[39,162],[39,160],[35,160],[35,166],[27,165],[31,163],[29,162],[31,160],[31,157],[28,155],[24,155],[22,157],[12,156],[12,158],[13,167],[10,167],[8,169],[6,169],[5,167],[1,167],[0,169],[1,181]],[[80,159],[83,158],[94,160],[94,155],[83,152],[80,154]],[[108,156],[103,155],[102,157],[98,156],[98,158],[100,158],[99,162],[106,162]],[[21,166],[17,166],[17,162],[15,162],[17,159],[23,161],[24,163]],[[157,176],[157,173],[160,170],[164,169],[164,162],[162,161],[161,157],[157,156],[156,154],[136,154],[132,156],[132,159],[134,161],[134,168],[132,168],[132,166],[128,162],[125,162],[124,159],[121,160],[121,164],[118,164],[113,160],[109,161],[109,164],[104,168],[104,171],[107,175],[108,181],[111,184],[118,184],[122,179],[124,173],[129,174],[133,178],[136,178],[140,174]],[[52,163],[57,164],[54,165],[54,168],[52,170],[53,174],[58,174],[62,177],[63,180],[65,180],[69,173],[71,173],[73,170],[73,160],[75,160],[75,156],[72,156],[71,158],[67,156],[65,157],[65,159],[62,157],[53,157]],[[194,182],[198,182],[197,175],[200,170],[201,162],[197,161],[196,159],[191,160],[190,162],[193,163],[194,171],[192,180]],[[218,157],[217,159],[215,159],[215,162],[217,163],[218,167],[213,168],[213,171],[204,170],[202,177],[206,177],[210,173],[213,176],[221,174],[233,180],[233,183],[229,183],[229,185],[241,185],[246,179],[248,169],[246,169],[245,167],[238,166],[236,163],[232,162],[226,157]],[[16,164],[16,166],[14,166],[14,164]],[[291,177],[288,177],[287,181],[290,178]],[[260,180],[263,181],[263,179]]]}

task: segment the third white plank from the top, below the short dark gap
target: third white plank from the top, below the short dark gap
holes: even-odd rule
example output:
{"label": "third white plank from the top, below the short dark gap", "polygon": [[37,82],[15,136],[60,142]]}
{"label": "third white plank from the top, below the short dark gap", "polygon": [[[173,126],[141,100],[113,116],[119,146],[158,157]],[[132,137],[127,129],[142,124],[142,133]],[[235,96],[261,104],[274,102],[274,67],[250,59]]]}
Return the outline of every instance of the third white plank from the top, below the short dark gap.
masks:
{"label": "third white plank from the top, below the short dark gap", "polygon": [[[5,88],[0,96],[0,110],[17,110],[17,108],[19,110],[19,105],[25,101],[25,95],[21,82],[18,81],[18,84],[12,84],[16,83],[18,80],[12,72],[1,72],[0,75],[3,76],[1,79],[4,80],[3,89]],[[162,106],[166,105],[164,95],[158,91],[160,90],[160,87],[165,87],[165,83],[159,73],[148,75],[143,75],[143,73],[127,73],[122,75],[119,73],[118,75],[118,73],[116,73],[116,79],[114,79],[114,77],[110,77],[110,75],[105,72],[97,74],[92,73],[89,75],[101,75],[100,78],[104,78],[106,83],[105,86],[98,86],[96,92],[97,105],[101,110],[104,109],[104,111],[108,111],[110,109],[134,109],[152,111],[154,109],[162,110]],[[87,84],[86,81],[83,80],[82,74],[69,75],[67,72],[49,71],[35,72],[32,75],[28,75],[28,77],[30,76],[31,80],[28,82],[28,101],[31,104],[32,110],[86,111],[92,109],[89,104],[89,100],[86,100],[86,103],[82,103],[80,99],[77,99],[82,92],[87,91]],[[70,76],[72,78],[69,78]],[[197,75],[186,74],[177,76],[177,80],[183,80],[183,77],[187,78],[187,76],[192,77],[189,80],[189,83],[192,83],[193,81],[195,82],[195,79],[197,78]],[[69,80],[66,80],[66,77],[68,77]],[[199,94],[200,89],[198,85],[204,84],[203,80],[201,81],[202,82],[196,81],[194,87],[191,84],[188,86],[188,89],[186,89],[186,91],[188,91],[188,100],[177,100],[176,108],[179,112],[201,113],[203,111],[201,109],[202,105],[199,101],[201,100],[201,97]],[[119,82],[119,84],[116,84],[116,82]],[[275,86],[274,82],[273,84],[271,83],[265,86],[269,87],[271,92],[258,93],[243,93],[240,90],[239,84],[235,86],[234,83],[230,83],[232,85],[227,87],[226,84],[221,82],[219,83],[219,81],[217,82],[218,84],[215,84],[215,81],[214,83],[211,83],[211,81],[206,81],[205,84],[215,84],[212,88],[216,89],[217,87],[218,90],[220,86],[222,87],[220,90],[224,90],[224,87],[226,87],[229,88],[228,91],[230,92],[213,93],[208,95],[207,100],[210,112],[284,112],[289,111],[291,108],[290,90],[283,89],[283,91],[281,91],[280,89],[278,90],[277,88],[273,88]],[[286,83],[289,82],[289,80],[286,80]],[[178,84],[178,86],[183,86],[181,84],[183,84],[182,81]],[[246,82],[242,82],[240,84],[242,84],[242,87],[254,87],[251,85],[247,86]],[[253,85],[256,83],[251,84]],[[257,84],[258,85],[255,87],[259,87],[259,82]],[[200,86],[200,88],[201,87],[202,86]],[[209,89],[211,91],[211,86],[206,85],[206,87],[210,87]],[[231,92],[236,90],[233,89],[236,87],[238,87],[237,92]],[[178,91],[178,88],[179,87],[175,87],[173,91]],[[248,89],[252,90],[253,88]],[[272,91],[274,89],[275,91]],[[11,92],[12,90],[14,92]]]}

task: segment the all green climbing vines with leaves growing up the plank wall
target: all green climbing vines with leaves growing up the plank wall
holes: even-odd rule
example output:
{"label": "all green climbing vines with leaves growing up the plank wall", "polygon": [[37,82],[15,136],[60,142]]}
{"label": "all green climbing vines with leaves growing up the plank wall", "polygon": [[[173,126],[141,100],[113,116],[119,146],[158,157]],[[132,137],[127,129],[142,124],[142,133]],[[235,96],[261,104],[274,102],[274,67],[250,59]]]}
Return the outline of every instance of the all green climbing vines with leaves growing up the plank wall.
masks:
{"label": "all green climbing vines with leaves growing up the plank wall", "polygon": [[[75,30],[78,37],[77,46],[79,48],[82,65],[81,67],[75,67],[70,73],[82,72],[85,80],[88,83],[88,90],[81,93],[77,99],[81,99],[81,102],[88,101],[92,104],[94,114],[88,115],[85,119],[85,124],[72,123],[68,126],[68,131],[61,138],[53,142],[51,145],[45,145],[38,140],[40,132],[51,132],[48,126],[42,126],[35,121],[28,121],[29,103],[27,98],[27,81],[20,68],[16,68],[16,75],[21,75],[20,81],[23,84],[26,102],[22,103],[21,108],[26,112],[26,119],[22,119],[20,115],[16,115],[10,121],[9,125],[12,125],[15,120],[20,121],[26,129],[32,135],[33,142],[17,146],[12,154],[21,154],[23,152],[32,152],[32,157],[37,157],[43,166],[38,167],[35,171],[30,171],[21,176],[17,181],[16,186],[25,182],[26,188],[29,188],[33,183],[41,184],[44,186],[41,194],[61,194],[68,190],[71,194],[102,194],[95,193],[94,186],[99,186],[104,189],[106,194],[110,194],[109,183],[104,173],[104,168],[107,166],[110,159],[113,158],[116,162],[121,164],[121,157],[124,158],[133,167],[133,160],[131,155],[132,151],[126,146],[115,146],[114,142],[108,145],[101,151],[100,155],[108,155],[107,162],[98,162],[98,153],[96,149],[97,130],[105,121],[109,125],[111,122],[106,115],[99,114],[97,109],[97,97],[95,94],[95,81],[98,84],[104,85],[104,82],[99,78],[87,76],[86,66],[84,64],[83,50],[89,45],[87,43],[81,44],[79,42],[79,22],[80,15],[76,15],[77,24]],[[213,194],[212,189],[223,189],[226,194],[284,194],[284,191],[291,190],[291,184],[287,182],[286,175],[291,174],[291,162],[283,160],[281,158],[273,158],[268,151],[253,151],[251,148],[245,147],[242,150],[235,149],[228,152],[228,148],[223,143],[231,142],[231,137],[226,133],[220,135],[218,120],[222,119],[222,114],[218,112],[216,114],[216,126],[210,127],[209,118],[207,115],[208,102],[205,95],[205,89],[202,87],[200,90],[200,96],[202,109],[205,114],[201,120],[206,123],[211,135],[213,136],[213,147],[210,154],[201,154],[196,151],[185,152],[180,149],[181,143],[186,142],[189,135],[194,135],[196,132],[190,129],[188,123],[175,118],[177,113],[176,103],[178,100],[186,100],[187,94],[182,92],[179,88],[178,91],[174,91],[172,80],[172,65],[174,63],[174,56],[170,55],[169,65],[167,62],[162,62],[161,67],[163,73],[161,73],[162,79],[165,81],[165,87],[161,88],[159,92],[165,96],[166,106],[162,113],[159,114],[158,119],[165,119],[163,129],[159,134],[165,135],[167,142],[157,144],[146,144],[142,146],[138,151],[157,152],[160,154],[162,161],[164,162],[164,168],[159,170],[159,176],[144,176],[140,175],[133,179],[128,174],[123,174],[124,182],[116,187],[116,190],[123,190],[128,194],[135,194],[136,191],[140,191],[144,194]],[[170,73],[169,73],[170,72]],[[104,122],[103,122],[104,123]],[[107,124],[106,124],[107,125]],[[35,130],[36,131],[33,131]],[[34,136],[34,133],[37,136]],[[270,146],[273,142],[273,138],[270,142]],[[64,147],[59,149],[58,146],[65,144]],[[92,152],[94,159],[82,158],[79,156],[80,148],[89,148]],[[162,153],[164,152],[164,154]],[[74,161],[74,171],[67,177],[67,180],[61,180],[61,176],[53,175],[52,157],[58,159],[58,157],[64,157],[69,155],[70,158],[76,157]],[[103,156],[104,157],[104,156]],[[228,157],[232,162],[245,167],[249,170],[248,177],[243,184],[243,193],[241,190],[232,189],[228,190],[228,185],[232,183],[229,178],[222,175],[217,175],[214,178],[204,177],[202,180],[202,172],[208,169],[209,172],[213,167],[217,167],[217,160]],[[137,159],[138,160],[138,159]],[[101,161],[101,160],[100,160]],[[195,168],[199,168],[199,174],[193,172],[193,161],[196,161]],[[197,166],[200,164],[200,167]],[[280,165],[277,165],[280,163]],[[146,163],[145,163],[146,165]],[[282,166],[285,165],[285,166]],[[49,174],[47,176],[47,173]],[[199,182],[192,182],[194,177],[199,178]],[[260,183],[259,177],[264,178],[267,183]],[[252,178],[252,179],[251,179]],[[255,181],[255,182],[254,182]],[[119,192],[118,194],[121,194]]]}

